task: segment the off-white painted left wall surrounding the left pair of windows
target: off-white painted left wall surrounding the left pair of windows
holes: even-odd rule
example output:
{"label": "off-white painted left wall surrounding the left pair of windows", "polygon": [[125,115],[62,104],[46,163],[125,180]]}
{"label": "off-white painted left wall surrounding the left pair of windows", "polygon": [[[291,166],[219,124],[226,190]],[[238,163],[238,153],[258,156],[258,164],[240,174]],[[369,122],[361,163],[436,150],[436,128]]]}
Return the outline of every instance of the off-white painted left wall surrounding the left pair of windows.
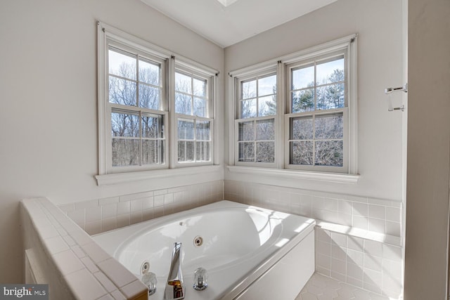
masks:
{"label": "off-white painted left wall surrounding the left pair of windows", "polygon": [[223,179],[96,185],[96,20],[224,74],[223,49],[139,0],[1,1],[0,282],[23,281],[24,197],[63,204]]}

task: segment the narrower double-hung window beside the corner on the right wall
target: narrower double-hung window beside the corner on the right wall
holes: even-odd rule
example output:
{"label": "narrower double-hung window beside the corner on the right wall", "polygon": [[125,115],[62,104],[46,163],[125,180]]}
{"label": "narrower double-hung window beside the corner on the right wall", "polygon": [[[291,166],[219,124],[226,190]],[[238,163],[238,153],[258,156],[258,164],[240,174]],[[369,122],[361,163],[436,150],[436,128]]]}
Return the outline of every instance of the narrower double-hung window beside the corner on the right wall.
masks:
{"label": "narrower double-hung window beside the corner on the right wall", "polygon": [[238,81],[236,158],[240,164],[275,163],[276,72]]}

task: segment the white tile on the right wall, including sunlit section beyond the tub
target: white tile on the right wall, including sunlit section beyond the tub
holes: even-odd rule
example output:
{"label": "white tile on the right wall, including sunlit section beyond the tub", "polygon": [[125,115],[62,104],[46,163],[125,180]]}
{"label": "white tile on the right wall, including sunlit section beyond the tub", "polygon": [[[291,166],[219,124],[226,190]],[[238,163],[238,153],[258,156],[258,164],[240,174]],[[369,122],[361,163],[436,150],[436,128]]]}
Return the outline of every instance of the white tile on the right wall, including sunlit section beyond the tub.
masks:
{"label": "white tile on the right wall, including sunlit section beyond the tub", "polygon": [[401,297],[400,202],[238,181],[225,181],[225,198],[316,219],[317,273]]}

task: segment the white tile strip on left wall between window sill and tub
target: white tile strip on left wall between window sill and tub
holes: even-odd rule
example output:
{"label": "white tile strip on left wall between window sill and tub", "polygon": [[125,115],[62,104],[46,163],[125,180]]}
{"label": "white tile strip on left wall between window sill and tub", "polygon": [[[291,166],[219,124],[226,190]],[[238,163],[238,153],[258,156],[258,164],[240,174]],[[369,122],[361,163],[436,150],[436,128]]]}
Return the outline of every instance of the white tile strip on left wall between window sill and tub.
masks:
{"label": "white tile strip on left wall between window sill and tub", "polygon": [[224,181],[87,200],[58,207],[89,235],[224,199]]}

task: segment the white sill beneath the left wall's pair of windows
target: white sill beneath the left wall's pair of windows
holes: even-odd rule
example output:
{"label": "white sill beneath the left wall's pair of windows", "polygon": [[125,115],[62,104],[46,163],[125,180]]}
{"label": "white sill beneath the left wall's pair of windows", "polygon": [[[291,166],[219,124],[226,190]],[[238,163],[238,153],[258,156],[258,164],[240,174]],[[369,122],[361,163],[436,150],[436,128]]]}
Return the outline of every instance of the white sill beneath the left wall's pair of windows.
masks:
{"label": "white sill beneath the left wall's pair of windows", "polygon": [[96,175],[97,185],[115,185],[153,178],[169,178],[174,176],[190,176],[195,174],[212,173],[221,170],[220,165],[204,167],[186,167],[179,169],[162,169],[152,171],[138,171],[117,174]]}

